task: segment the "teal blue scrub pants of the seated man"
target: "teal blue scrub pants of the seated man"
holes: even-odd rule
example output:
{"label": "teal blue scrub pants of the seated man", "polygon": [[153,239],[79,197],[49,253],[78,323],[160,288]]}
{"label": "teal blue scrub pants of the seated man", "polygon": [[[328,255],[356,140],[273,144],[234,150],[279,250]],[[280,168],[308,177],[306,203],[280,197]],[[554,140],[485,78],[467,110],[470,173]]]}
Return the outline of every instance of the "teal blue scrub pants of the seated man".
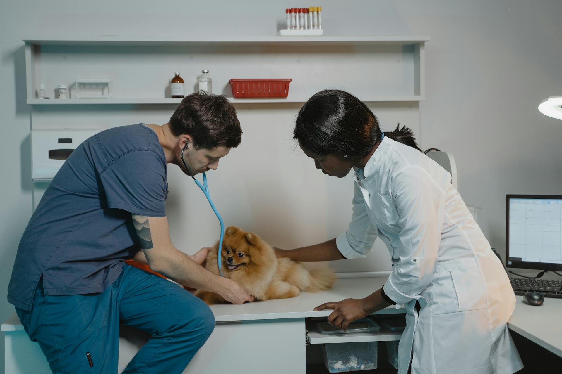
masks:
{"label": "teal blue scrub pants of the seated man", "polygon": [[16,307],[56,374],[117,374],[119,325],[151,334],[123,373],[181,373],[215,327],[210,308],[182,287],[125,265],[104,292],[46,295],[33,308]]}

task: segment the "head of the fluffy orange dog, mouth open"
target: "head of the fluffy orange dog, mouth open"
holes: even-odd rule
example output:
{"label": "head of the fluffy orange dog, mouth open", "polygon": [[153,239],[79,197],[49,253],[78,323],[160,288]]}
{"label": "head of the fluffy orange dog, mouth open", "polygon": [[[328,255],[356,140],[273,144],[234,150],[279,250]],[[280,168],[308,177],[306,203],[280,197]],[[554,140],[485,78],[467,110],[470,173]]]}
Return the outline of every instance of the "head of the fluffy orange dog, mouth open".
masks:
{"label": "head of the fluffy orange dog, mouth open", "polygon": [[259,256],[256,247],[257,237],[253,233],[245,232],[237,227],[230,226],[224,233],[223,250],[221,259],[228,267],[228,271],[243,270],[252,265],[252,256]]}

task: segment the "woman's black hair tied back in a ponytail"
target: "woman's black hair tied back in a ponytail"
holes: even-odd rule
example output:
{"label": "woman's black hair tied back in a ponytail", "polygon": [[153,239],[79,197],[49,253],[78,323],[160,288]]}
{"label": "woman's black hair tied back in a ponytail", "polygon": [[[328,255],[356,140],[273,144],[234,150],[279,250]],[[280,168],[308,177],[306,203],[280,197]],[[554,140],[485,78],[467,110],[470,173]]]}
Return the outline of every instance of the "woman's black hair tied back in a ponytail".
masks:
{"label": "woman's black hair tied back in a ponytail", "polygon": [[[355,96],[341,90],[324,90],[314,94],[298,112],[293,138],[319,155],[349,155],[360,159],[369,154],[380,140],[377,117]],[[414,147],[414,133],[400,123],[385,132],[392,140]]]}

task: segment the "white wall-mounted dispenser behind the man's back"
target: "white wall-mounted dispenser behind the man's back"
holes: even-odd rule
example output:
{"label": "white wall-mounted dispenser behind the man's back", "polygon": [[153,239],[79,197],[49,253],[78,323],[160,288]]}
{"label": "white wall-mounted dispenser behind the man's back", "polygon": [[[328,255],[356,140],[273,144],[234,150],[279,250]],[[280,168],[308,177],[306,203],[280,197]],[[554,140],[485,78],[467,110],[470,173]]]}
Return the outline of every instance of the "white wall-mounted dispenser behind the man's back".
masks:
{"label": "white wall-mounted dispenser behind the man's back", "polygon": [[101,129],[31,130],[31,179],[48,182],[84,140]]}

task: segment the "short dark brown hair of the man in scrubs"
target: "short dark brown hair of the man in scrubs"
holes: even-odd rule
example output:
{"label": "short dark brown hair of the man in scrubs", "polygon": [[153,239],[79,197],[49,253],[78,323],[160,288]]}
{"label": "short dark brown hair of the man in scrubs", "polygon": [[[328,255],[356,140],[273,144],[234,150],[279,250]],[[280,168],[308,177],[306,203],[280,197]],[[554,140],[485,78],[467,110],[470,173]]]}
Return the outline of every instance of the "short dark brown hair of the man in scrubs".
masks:
{"label": "short dark brown hair of the man in scrubs", "polygon": [[242,141],[242,128],[236,109],[224,95],[205,91],[185,96],[170,117],[174,136],[188,134],[196,149],[237,147]]}

